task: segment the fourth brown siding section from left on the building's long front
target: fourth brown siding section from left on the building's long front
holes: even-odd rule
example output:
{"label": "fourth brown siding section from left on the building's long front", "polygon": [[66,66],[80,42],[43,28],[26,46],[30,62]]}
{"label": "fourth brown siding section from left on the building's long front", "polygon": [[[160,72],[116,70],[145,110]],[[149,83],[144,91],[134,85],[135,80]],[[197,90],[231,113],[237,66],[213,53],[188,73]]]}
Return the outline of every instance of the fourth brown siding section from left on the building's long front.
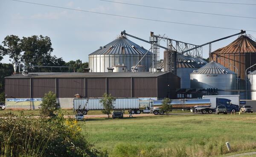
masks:
{"label": "fourth brown siding section from left on the building's long front", "polygon": [[86,78],[86,97],[101,98],[106,92],[106,78]]}

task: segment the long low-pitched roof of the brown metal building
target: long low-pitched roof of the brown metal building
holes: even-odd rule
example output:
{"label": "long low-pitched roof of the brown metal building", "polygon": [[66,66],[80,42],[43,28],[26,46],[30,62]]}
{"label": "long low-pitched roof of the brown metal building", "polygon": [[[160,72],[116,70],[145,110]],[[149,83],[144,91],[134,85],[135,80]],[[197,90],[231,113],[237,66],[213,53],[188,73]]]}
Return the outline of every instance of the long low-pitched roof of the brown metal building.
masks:
{"label": "long low-pitched roof of the brown metal building", "polygon": [[[106,78],[106,77],[157,77],[169,72],[136,72],[136,73],[29,73],[30,76],[22,74],[7,76],[5,78]],[[33,76],[31,76],[33,74]]]}

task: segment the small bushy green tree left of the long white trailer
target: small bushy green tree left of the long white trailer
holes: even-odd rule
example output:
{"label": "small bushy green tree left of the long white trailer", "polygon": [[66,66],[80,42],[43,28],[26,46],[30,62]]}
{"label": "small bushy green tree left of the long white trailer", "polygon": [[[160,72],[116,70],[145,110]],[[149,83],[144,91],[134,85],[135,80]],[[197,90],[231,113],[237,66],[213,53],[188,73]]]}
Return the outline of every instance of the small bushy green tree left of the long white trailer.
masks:
{"label": "small bushy green tree left of the long white trailer", "polygon": [[60,108],[59,103],[57,102],[56,94],[52,91],[46,93],[42,99],[40,107],[41,116],[54,116],[54,112]]}

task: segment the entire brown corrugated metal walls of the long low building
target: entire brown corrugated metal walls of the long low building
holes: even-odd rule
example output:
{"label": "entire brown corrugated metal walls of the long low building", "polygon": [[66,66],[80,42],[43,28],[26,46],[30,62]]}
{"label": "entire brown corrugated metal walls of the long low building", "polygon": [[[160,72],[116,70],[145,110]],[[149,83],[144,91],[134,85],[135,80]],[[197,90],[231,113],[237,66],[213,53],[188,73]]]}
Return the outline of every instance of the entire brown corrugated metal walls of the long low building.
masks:
{"label": "entire brown corrugated metal walls of the long low building", "polygon": [[171,73],[152,78],[6,78],[6,98],[30,98],[30,79],[32,98],[41,98],[50,90],[58,98],[74,98],[75,94],[97,98],[106,92],[115,97],[163,98],[168,92],[176,96],[171,89],[180,88],[180,78]]}

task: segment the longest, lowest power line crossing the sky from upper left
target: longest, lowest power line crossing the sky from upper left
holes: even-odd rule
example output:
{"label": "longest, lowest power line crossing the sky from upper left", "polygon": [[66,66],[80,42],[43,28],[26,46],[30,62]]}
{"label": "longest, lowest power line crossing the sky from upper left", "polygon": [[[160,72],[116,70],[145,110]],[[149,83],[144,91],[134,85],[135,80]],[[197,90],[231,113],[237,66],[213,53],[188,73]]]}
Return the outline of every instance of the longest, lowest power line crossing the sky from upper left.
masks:
{"label": "longest, lowest power line crossing the sky from upper left", "polygon": [[[35,5],[39,5],[39,6],[50,6],[50,7],[54,7],[54,8],[60,8],[60,9],[76,10],[76,11],[81,11],[81,12],[90,12],[90,13],[95,13],[95,14],[110,15],[110,16],[116,16],[116,17],[126,17],[126,18],[132,18],[132,19],[156,21],[156,22],[163,22],[163,23],[175,23],[175,24],[182,24],[182,25],[189,25],[189,26],[201,26],[201,27],[208,27],[208,28],[230,29],[230,30],[239,30],[239,31],[241,30],[241,29],[227,28],[227,27],[207,26],[207,25],[199,25],[199,24],[191,24],[191,23],[180,23],[180,22],[173,22],[173,21],[155,20],[155,19],[141,18],[141,17],[132,17],[132,16],[125,16],[125,15],[108,14],[108,13],[102,13],[102,12],[92,12],[92,11],[87,11],[87,10],[72,9],[72,8],[66,8],[66,7],[61,7],[61,6],[52,6],[52,5],[40,4],[40,3],[32,3],[32,2],[26,2],[26,1],[21,1],[21,0],[13,0],[13,1],[22,2],[22,3],[30,3],[30,4],[35,4]],[[256,32],[256,30],[247,30],[247,29],[245,29],[245,30],[250,31],[250,32]]]}

